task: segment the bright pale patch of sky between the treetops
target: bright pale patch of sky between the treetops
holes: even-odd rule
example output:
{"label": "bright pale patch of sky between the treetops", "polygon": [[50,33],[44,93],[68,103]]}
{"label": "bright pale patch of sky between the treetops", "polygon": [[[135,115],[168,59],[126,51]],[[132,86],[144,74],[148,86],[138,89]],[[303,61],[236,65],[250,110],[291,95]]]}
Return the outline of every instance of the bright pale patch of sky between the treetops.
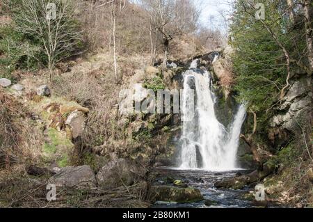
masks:
{"label": "bright pale patch of sky between the treetops", "polygon": [[[220,15],[220,12],[227,15],[227,12],[232,9],[230,5],[231,1],[232,0],[195,0],[195,3],[197,5],[200,4],[202,9],[200,23],[203,26],[209,26],[211,29],[220,29],[223,23],[223,16]],[[212,21],[210,17],[214,17],[214,21]]]}

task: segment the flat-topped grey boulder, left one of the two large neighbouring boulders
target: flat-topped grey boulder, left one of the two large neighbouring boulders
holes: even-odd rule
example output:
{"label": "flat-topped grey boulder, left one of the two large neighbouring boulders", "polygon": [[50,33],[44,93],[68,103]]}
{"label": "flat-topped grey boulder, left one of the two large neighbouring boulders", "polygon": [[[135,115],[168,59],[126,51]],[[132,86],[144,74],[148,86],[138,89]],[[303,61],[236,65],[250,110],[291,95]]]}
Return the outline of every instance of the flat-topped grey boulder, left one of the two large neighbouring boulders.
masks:
{"label": "flat-topped grey boulder, left one of the two large neighbouring boulders", "polygon": [[49,179],[56,187],[96,187],[95,173],[90,166],[67,166]]}

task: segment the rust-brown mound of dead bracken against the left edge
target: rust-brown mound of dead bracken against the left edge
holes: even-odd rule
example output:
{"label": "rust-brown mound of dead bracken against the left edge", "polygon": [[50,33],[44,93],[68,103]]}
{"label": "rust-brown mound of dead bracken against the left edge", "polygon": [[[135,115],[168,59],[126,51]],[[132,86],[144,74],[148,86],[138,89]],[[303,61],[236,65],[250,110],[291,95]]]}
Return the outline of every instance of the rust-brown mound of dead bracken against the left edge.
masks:
{"label": "rust-brown mound of dead bracken against the left edge", "polygon": [[0,89],[0,168],[40,158],[42,138],[30,117],[23,104]]}

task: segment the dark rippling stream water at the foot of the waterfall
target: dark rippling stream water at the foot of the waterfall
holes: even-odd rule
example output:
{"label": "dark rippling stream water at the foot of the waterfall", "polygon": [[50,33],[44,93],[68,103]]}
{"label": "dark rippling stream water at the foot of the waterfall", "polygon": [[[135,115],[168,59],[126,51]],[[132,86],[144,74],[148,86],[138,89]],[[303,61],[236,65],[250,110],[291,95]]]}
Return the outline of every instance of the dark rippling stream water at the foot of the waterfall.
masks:
{"label": "dark rippling stream water at the foot of the waterfall", "polygon": [[[245,200],[243,195],[252,191],[250,187],[241,190],[234,189],[216,189],[214,183],[218,180],[234,177],[236,174],[249,173],[249,171],[229,171],[229,172],[210,172],[210,171],[185,171],[175,170],[171,168],[156,168],[158,174],[155,185],[165,185],[166,178],[170,177],[174,180],[182,180],[189,187],[200,189],[204,200],[198,203],[166,203],[157,202],[154,208],[246,208],[257,207],[250,200]],[[210,206],[205,205],[206,201],[213,203]]]}

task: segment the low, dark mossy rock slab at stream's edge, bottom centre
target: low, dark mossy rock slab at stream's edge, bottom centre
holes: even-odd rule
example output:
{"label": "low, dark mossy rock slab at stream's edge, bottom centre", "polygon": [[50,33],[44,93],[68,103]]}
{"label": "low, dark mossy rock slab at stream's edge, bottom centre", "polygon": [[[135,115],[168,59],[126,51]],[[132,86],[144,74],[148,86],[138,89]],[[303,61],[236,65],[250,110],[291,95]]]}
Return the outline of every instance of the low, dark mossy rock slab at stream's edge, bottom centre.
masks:
{"label": "low, dark mossy rock slab at stream's edge, bottom centre", "polygon": [[203,200],[200,190],[191,187],[152,186],[150,187],[149,196],[154,201],[178,203],[194,203]]}

